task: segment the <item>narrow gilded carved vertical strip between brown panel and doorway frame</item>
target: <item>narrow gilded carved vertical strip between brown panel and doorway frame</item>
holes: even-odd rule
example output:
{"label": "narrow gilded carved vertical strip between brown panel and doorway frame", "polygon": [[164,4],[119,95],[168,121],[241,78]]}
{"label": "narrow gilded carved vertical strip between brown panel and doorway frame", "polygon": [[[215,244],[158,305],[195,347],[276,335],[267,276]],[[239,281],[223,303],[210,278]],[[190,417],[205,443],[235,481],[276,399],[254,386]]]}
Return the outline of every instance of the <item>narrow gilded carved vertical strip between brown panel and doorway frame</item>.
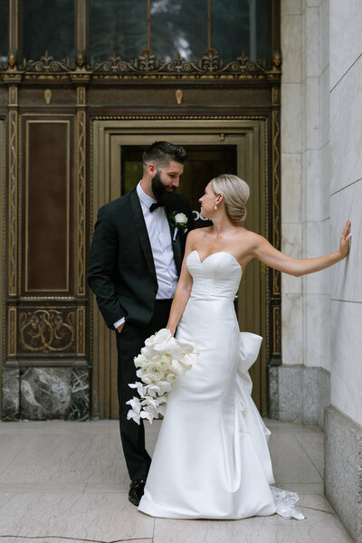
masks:
{"label": "narrow gilded carved vertical strip between brown panel and doorway frame", "polygon": [[[77,99],[84,105],[85,89],[77,90]],[[76,253],[76,289],[78,296],[85,295],[85,131],[86,131],[86,112],[79,110],[77,112],[77,253]]]}

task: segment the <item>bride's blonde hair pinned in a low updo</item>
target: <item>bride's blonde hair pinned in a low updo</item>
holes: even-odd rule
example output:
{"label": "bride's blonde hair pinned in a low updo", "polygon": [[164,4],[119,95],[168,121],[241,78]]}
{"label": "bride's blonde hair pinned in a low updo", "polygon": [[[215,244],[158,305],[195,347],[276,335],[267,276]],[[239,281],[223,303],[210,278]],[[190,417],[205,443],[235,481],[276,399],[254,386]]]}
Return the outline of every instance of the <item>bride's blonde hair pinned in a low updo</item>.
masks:
{"label": "bride's blonde hair pinned in a low updo", "polygon": [[250,195],[249,186],[238,176],[224,174],[214,177],[211,186],[215,195],[224,196],[225,211],[233,223],[243,223],[246,218],[246,202]]}

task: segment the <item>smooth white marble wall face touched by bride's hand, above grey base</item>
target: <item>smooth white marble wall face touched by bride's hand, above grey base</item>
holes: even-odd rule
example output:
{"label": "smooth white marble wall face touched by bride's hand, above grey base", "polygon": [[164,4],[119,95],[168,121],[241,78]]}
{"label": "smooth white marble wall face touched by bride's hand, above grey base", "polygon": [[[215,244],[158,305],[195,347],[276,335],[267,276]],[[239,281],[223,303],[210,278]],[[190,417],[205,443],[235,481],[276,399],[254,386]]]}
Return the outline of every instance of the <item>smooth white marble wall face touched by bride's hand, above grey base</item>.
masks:
{"label": "smooth white marble wall face touched by bride's hand, above grey base", "polygon": [[330,2],[330,220],[352,221],[348,260],[332,270],[331,402],[362,425],[362,6]]}

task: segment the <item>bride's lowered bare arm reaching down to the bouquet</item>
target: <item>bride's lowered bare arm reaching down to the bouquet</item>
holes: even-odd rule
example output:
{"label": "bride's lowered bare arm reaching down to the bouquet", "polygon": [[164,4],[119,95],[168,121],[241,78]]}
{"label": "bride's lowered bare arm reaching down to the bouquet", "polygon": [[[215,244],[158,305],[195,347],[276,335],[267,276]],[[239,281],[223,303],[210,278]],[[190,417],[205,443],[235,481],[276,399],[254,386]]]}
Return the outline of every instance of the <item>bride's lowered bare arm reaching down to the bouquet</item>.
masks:
{"label": "bride's lowered bare arm reaching down to the bouquet", "polygon": [[190,298],[193,279],[186,267],[186,258],[191,252],[191,247],[193,243],[193,238],[195,236],[195,231],[191,231],[186,240],[185,256],[182,262],[182,268],[180,273],[180,279],[177,283],[177,288],[175,292],[175,297],[171,305],[170,314],[167,322],[167,329],[171,330],[171,334],[174,335],[179,319],[186,308],[186,303]]}

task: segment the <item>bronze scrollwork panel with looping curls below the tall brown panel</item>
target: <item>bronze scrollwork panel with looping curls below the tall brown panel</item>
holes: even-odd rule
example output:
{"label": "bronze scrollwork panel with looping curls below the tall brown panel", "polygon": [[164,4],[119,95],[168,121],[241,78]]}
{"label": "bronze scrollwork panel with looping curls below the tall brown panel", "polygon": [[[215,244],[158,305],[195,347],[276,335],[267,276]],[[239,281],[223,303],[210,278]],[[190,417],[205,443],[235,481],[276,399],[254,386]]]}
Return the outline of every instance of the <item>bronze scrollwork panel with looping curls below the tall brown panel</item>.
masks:
{"label": "bronze scrollwork panel with looping curls below the tall brown panel", "polygon": [[19,350],[23,352],[74,351],[74,310],[24,310],[19,328]]}

